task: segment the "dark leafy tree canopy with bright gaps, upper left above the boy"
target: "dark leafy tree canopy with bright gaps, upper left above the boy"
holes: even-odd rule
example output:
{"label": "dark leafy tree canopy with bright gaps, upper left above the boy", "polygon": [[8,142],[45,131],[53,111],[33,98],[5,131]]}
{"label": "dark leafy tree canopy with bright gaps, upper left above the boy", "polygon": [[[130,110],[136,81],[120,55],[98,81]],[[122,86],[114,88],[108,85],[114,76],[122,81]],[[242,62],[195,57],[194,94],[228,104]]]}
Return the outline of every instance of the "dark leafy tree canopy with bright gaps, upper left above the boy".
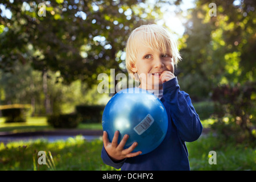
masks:
{"label": "dark leafy tree canopy with bright gaps, upper left above the boy", "polygon": [[144,11],[143,2],[47,1],[46,16],[38,16],[41,0],[1,1],[11,17],[0,16],[0,68],[12,72],[18,61],[31,63],[42,72],[59,71],[64,82],[80,79],[89,86],[105,68],[122,72],[129,32],[160,14],[157,5]]}

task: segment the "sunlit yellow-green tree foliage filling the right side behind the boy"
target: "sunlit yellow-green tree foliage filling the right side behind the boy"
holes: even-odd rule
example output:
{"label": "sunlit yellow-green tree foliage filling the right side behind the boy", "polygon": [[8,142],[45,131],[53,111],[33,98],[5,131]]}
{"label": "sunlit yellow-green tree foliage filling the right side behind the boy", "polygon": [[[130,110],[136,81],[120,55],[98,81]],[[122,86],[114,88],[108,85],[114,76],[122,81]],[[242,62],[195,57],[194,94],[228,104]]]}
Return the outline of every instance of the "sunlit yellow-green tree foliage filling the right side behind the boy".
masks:
{"label": "sunlit yellow-green tree foliage filling the right side behind the boy", "polygon": [[215,1],[216,16],[209,3],[199,0],[191,10],[177,73],[192,98],[214,101],[225,139],[255,144],[256,3]]}

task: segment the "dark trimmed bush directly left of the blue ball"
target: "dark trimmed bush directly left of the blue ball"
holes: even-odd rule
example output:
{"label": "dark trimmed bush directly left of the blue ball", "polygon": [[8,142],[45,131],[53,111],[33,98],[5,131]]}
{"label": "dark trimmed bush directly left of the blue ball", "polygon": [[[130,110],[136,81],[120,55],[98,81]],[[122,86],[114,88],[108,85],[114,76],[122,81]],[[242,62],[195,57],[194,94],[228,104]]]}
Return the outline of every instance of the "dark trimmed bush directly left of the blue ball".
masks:
{"label": "dark trimmed bush directly left of the blue ball", "polygon": [[76,106],[76,112],[83,123],[101,123],[104,108],[104,105],[79,105]]}

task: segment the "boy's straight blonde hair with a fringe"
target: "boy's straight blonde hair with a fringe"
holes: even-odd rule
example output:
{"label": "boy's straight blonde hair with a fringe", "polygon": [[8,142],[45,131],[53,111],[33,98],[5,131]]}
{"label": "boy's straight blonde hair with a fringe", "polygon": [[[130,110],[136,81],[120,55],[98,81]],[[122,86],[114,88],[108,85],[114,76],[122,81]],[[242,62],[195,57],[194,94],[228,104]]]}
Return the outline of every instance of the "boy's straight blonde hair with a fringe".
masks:
{"label": "boy's straight blonde hair with a fringe", "polygon": [[174,58],[176,65],[181,56],[177,43],[167,28],[156,24],[145,24],[133,30],[126,43],[126,69],[133,73],[131,67],[136,63],[139,47],[138,42],[151,49],[157,49],[163,53],[169,53]]}

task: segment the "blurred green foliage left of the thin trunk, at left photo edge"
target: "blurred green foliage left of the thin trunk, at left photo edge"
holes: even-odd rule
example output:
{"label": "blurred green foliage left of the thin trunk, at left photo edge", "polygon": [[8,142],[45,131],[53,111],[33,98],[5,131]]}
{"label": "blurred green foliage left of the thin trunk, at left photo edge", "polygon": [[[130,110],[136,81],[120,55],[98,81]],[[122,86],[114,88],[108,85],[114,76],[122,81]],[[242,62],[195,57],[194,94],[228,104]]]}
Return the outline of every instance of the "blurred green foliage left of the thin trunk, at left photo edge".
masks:
{"label": "blurred green foliage left of the thin trunk, at left photo edge", "polygon": [[[16,63],[13,73],[0,70],[1,104],[31,104],[31,113],[39,112],[43,105],[42,74],[33,71],[30,65]],[[33,105],[36,103],[36,107]]]}

